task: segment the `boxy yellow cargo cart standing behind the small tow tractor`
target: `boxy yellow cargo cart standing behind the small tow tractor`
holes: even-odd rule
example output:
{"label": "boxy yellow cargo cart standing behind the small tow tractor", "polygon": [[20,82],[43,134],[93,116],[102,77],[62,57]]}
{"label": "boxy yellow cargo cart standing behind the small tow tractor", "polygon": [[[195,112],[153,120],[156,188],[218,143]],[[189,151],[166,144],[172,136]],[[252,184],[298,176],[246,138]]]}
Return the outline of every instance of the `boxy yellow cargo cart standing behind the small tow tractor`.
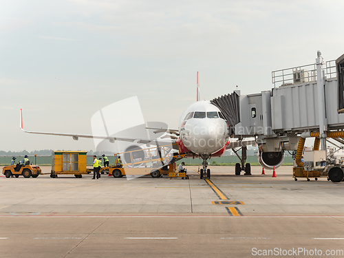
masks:
{"label": "boxy yellow cargo cart standing behind the small tow tractor", "polygon": [[58,175],[74,175],[82,178],[90,171],[86,169],[87,151],[53,151],[50,178]]}

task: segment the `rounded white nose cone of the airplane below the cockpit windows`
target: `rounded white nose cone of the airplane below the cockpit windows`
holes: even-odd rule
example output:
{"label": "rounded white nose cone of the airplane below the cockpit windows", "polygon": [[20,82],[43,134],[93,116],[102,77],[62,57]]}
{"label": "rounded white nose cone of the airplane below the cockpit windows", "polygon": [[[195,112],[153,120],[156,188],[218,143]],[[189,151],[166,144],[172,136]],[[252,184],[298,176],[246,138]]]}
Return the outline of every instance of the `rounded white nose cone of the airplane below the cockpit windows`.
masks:
{"label": "rounded white nose cone of the airplane below the cockpit windows", "polygon": [[215,122],[204,120],[198,122],[191,131],[191,151],[200,154],[211,154],[222,149],[226,144],[224,129]]}

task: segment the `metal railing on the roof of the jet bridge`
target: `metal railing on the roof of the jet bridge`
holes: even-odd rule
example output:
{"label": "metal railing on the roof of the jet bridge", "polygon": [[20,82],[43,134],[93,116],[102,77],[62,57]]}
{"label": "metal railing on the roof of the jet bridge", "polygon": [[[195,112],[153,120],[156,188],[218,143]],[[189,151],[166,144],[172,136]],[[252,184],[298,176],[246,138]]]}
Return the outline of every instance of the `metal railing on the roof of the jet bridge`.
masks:
{"label": "metal railing on the roof of the jet bridge", "polygon": [[[323,71],[327,79],[336,78],[336,61],[332,60],[323,63]],[[276,87],[276,84],[278,87],[311,82],[316,82],[315,63],[272,71],[272,83],[274,87]],[[281,83],[281,85],[278,85],[279,83]]]}

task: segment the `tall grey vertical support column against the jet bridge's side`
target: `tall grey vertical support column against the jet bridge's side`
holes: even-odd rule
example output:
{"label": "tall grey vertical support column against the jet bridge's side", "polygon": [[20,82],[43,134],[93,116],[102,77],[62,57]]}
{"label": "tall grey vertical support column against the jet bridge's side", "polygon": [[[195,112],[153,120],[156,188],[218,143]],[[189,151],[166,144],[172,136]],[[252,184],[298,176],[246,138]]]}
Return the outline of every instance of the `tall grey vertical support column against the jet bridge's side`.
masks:
{"label": "tall grey vertical support column against the jet bridge's side", "polygon": [[321,150],[326,150],[326,133],[327,131],[327,119],[325,111],[325,88],[324,88],[324,76],[323,76],[323,58],[321,52],[317,52],[318,58],[316,58],[316,86],[318,92],[318,109],[319,109],[319,131],[321,138]]}

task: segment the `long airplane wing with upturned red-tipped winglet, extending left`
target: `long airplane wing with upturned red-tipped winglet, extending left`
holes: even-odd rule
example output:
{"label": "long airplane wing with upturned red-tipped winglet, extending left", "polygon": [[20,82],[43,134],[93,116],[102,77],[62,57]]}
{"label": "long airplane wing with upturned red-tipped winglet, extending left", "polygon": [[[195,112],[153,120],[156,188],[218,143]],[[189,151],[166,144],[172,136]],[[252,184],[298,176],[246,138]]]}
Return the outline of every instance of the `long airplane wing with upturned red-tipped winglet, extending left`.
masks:
{"label": "long airplane wing with upturned red-tipped winglet, extending left", "polygon": [[125,142],[135,142],[135,143],[142,143],[142,144],[153,144],[153,145],[169,145],[174,144],[175,139],[171,138],[171,140],[161,140],[161,139],[138,139],[138,138],[128,138],[128,137],[117,137],[117,136],[94,136],[90,134],[77,134],[77,133],[49,133],[49,132],[42,132],[42,131],[26,131],[23,129],[23,111],[21,109],[21,120],[20,120],[20,127],[21,131],[25,133],[36,133],[36,134],[45,134],[49,136],[71,136],[73,140],[78,140],[78,138],[91,138],[91,139],[101,139],[101,140],[109,140],[110,142],[115,142],[116,140],[122,140]]}

